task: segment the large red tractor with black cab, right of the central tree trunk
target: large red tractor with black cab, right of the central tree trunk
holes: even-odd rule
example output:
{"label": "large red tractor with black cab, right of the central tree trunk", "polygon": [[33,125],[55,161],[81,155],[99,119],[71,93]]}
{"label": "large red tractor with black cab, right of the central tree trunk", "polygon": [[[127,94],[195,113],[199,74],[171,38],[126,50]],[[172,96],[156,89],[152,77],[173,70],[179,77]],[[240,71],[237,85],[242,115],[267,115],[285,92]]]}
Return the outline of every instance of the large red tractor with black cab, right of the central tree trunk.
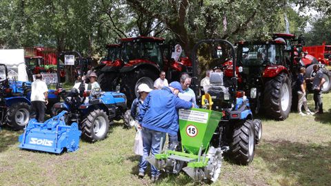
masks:
{"label": "large red tractor with black cab, right of the central tree trunk", "polygon": [[[293,88],[299,69],[305,66],[307,74],[313,75],[312,64],[318,63],[313,56],[299,56],[302,43],[303,39],[293,34],[274,34],[270,41],[236,43],[238,64],[242,67],[237,68],[239,87],[250,99],[253,112],[263,110],[271,118],[285,120],[291,105],[297,105],[297,92]],[[232,68],[224,71],[227,76]],[[327,71],[325,76],[329,79]],[[327,89],[330,83],[326,83]]]}

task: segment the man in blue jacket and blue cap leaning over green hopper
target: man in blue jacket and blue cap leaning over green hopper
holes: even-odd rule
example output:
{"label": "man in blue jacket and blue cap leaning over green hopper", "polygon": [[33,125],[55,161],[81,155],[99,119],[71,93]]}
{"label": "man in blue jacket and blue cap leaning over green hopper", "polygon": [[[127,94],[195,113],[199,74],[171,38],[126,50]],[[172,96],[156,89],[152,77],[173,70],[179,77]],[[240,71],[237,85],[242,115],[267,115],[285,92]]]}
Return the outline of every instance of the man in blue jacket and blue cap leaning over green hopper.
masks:
{"label": "man in blue jacket and blue cap leaning over green hopper", "polygon": [[[146,158],[159,153],[160,141],[165,140],[165,134],[176,135],[179,129],[177,109],[190,109],[194,103],[183,101],[177,95],[183,92],[181,83],[174,81],[169,87],[153,90],[140,106],[138,115],[139,127],[142,128],[143,156],[139,163],[139,177],[145,176]],[[151,165],[152,181],[159,178],[159,170]]]}

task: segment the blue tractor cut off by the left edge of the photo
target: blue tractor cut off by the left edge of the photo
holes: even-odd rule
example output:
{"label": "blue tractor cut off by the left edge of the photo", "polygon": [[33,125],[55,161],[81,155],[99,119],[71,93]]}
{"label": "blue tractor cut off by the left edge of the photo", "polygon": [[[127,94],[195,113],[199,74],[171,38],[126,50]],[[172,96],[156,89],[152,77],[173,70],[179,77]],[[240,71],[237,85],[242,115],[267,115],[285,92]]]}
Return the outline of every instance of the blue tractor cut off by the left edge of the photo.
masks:
{"label": "blue tractor cut off by the left edge of the photo", "polygon": [[[8,124],[14,130],[23,129],[31,115],[31,83],[8,79],[7,66],[0,64],[0,125]],[[50,105],[59,102],[54,90],[48,91],[49,104],[46,113],[50,113]]]}

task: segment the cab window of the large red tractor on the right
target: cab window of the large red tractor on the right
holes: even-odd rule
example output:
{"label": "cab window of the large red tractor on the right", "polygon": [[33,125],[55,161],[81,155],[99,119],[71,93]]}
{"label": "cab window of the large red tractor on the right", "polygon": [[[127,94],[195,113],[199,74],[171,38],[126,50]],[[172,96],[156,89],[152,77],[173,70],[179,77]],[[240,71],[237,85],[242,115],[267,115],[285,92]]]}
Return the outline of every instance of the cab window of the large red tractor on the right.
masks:
{"label": "cab window of the large red tractor on the right", "polygon": [[281,47],[274,44],[242,45],[239,47],[239,61],[243,66],[279,65],[282,63]]}

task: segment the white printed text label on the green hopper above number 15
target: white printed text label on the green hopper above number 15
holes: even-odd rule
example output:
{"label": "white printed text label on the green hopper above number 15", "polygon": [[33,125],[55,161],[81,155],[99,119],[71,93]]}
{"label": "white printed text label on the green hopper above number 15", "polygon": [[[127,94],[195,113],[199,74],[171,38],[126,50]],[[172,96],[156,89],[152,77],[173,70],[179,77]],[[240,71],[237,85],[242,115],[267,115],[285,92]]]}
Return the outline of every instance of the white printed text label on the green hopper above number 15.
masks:
{"label": "white printed text label on the green hopper above number 15", "polygon": [[193,121],[198,123],[207,123],[208,112],[200,112],[197,110],[179,110],[179,119],[185,121]]}

